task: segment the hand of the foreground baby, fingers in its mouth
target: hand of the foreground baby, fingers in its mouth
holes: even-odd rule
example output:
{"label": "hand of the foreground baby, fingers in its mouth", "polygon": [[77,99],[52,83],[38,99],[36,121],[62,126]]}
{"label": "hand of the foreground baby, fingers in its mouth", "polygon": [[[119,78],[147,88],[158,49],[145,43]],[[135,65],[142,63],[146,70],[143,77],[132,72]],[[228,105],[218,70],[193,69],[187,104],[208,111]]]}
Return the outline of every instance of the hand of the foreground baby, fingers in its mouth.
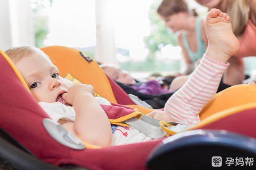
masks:
{"label": "hand of the foreground baby, fingers in its mouth", "polygon": [[94,96],[94,88],[91,85],[78,84],[71,86],[67,93],[62,94],[62,98],[70,105],[73,105],[73,100],[76,97],[81,97],[84,95],[93,95]]}

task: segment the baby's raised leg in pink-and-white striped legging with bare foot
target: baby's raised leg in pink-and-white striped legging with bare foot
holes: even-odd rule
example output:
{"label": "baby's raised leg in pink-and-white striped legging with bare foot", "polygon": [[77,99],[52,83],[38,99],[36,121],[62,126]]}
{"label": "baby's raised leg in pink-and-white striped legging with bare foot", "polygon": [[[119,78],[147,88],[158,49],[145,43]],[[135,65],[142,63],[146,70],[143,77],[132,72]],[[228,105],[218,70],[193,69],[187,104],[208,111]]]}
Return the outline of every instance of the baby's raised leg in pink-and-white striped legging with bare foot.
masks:
{"label": "baby's raised leg in pink-and-white striped legging with bare foot", "polygon": [[215,95],[228,66],[227,60],[239,50],[239,41],[227,14],[212,9],[207,14],[205,26],[207,51],[185,85],[171,96],[164,108],[177,122],[187,125],[200,122],[198,113]]}

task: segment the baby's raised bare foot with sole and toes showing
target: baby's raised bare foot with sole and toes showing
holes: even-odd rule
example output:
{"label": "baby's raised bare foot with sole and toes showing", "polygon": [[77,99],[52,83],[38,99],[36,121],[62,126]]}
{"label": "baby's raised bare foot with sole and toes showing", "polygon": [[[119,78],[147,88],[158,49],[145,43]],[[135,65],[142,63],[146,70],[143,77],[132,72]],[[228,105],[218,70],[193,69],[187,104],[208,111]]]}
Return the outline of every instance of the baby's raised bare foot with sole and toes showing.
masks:
{"label": "baby's raised bare foot with sole and toes showing", "polygon": [[208,38],[206,55],[226,63],[240,47],[239,40],[232,31],[230,17],[214,8],[208,12],[205,26]]}

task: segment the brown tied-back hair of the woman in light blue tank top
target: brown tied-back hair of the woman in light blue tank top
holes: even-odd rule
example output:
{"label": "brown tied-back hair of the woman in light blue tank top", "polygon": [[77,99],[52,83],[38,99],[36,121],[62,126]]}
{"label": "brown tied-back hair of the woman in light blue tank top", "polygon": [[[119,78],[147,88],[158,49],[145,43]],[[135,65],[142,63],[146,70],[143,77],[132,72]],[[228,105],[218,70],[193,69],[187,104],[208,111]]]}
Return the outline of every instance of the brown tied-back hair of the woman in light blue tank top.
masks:
{"label": "brown tied-back hair of the woman in light blue tank top", "polygon": [[[190,13],[185,0],[163,0],[157,8],[157,13],[162,17],[169,17],[172,14],[184,11]],[[195,9],[191,11],[191,14],[195,17],[198,16]]]}

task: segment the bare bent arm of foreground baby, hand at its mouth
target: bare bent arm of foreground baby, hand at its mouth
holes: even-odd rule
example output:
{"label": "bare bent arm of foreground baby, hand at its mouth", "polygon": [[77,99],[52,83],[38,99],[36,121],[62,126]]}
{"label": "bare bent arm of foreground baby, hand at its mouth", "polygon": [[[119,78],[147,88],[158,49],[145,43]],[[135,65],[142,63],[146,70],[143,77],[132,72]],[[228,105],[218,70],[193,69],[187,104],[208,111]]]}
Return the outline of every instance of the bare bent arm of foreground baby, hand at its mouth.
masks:
{"label": "bare bent arm of foreground baby, hand at its mouth", "polygon": [[74,85],[63,94],[63,99],[73,105],[76,112],[75,122],[59,121],[79,139],[98,146],[109,146],[112,140],[111,125],[105,111],[96,101],[93,87]]}

